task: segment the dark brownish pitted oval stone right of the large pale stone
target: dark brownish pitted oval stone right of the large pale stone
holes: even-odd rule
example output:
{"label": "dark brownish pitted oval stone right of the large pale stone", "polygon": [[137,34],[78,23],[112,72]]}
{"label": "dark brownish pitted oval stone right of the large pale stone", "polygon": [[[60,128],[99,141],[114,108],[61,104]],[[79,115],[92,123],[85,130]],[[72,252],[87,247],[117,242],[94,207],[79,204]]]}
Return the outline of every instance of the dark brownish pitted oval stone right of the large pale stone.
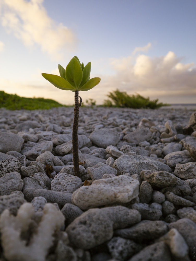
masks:
{"label": "dark brownish pitted oval stone right of the large pale stone", "polygon": [[174,187],[176,184],[176,176],[166,171],[155,171],[145,177],[152,186],[164,188]]}

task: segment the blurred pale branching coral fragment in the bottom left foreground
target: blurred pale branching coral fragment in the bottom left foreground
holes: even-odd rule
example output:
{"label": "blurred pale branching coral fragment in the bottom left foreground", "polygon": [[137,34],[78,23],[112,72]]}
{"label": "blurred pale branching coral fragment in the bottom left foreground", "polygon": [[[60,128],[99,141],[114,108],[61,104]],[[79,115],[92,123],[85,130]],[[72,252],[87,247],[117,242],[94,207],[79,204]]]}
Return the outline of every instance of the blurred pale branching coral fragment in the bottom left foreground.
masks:
{"label": "blurred pale branching coral fragment in the bottom left foreground", "polygon": [[54,232],[64,224],[63,214],[55,205],[46,204],[43,216],[30,239],[22,234],[28,231],[35,214],[31,203],[23,204],[16,216],[4,210],[0,217],[1,241],[4,256],[8,261],[44,261],[49,248],[53,245]]}

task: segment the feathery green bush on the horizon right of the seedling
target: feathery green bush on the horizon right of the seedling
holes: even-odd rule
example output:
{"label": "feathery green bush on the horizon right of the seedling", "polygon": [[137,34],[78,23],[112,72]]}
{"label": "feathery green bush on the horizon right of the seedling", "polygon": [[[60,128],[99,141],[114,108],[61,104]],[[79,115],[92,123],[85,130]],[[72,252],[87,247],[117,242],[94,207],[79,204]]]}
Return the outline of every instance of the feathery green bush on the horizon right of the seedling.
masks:
{"label": "feathery green bush on the horizon right of the seedling", "polygon": [[118,89],[113,93],[110,92],[107,95],[111,100],[104,100],[103,106],[107,107],[126,107],[126,108],[150,108],[157,109],[162,106],[167,106],[169,104],[157,103],[158,99],[150,100],[150,98],[144,98],[140,94],[129,95],[126,92],[120,92]]}

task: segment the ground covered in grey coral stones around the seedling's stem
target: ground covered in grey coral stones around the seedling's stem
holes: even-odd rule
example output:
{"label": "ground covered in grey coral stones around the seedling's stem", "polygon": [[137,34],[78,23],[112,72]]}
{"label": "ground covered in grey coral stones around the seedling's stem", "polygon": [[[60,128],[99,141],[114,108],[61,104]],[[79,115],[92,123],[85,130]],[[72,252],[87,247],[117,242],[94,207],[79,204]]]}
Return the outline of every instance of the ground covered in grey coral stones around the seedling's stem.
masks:
{"label": "ground covered in grey coral stones around the seedling's stem", "polygon": [[196,112],[0,109],[0,261],[195,260]]}

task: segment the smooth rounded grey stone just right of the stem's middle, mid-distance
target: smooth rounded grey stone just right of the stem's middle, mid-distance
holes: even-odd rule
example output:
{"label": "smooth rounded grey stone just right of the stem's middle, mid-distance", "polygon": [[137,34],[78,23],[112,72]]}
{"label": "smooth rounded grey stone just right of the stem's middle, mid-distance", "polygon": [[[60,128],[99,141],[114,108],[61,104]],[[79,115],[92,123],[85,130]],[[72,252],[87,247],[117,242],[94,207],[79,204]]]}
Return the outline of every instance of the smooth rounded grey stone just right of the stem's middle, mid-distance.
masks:
{"label": "smooth rounded grey stone just right of the stem's middle, mid-distance", "polygon": [[113,131],[109,131],[107,129],[98,129],[96,131],[93,131],[90,134],[89,138],[91,142],[95,145],[101,148],[106,148],[109,145],[116,146],[119,139],[119,134]]}

